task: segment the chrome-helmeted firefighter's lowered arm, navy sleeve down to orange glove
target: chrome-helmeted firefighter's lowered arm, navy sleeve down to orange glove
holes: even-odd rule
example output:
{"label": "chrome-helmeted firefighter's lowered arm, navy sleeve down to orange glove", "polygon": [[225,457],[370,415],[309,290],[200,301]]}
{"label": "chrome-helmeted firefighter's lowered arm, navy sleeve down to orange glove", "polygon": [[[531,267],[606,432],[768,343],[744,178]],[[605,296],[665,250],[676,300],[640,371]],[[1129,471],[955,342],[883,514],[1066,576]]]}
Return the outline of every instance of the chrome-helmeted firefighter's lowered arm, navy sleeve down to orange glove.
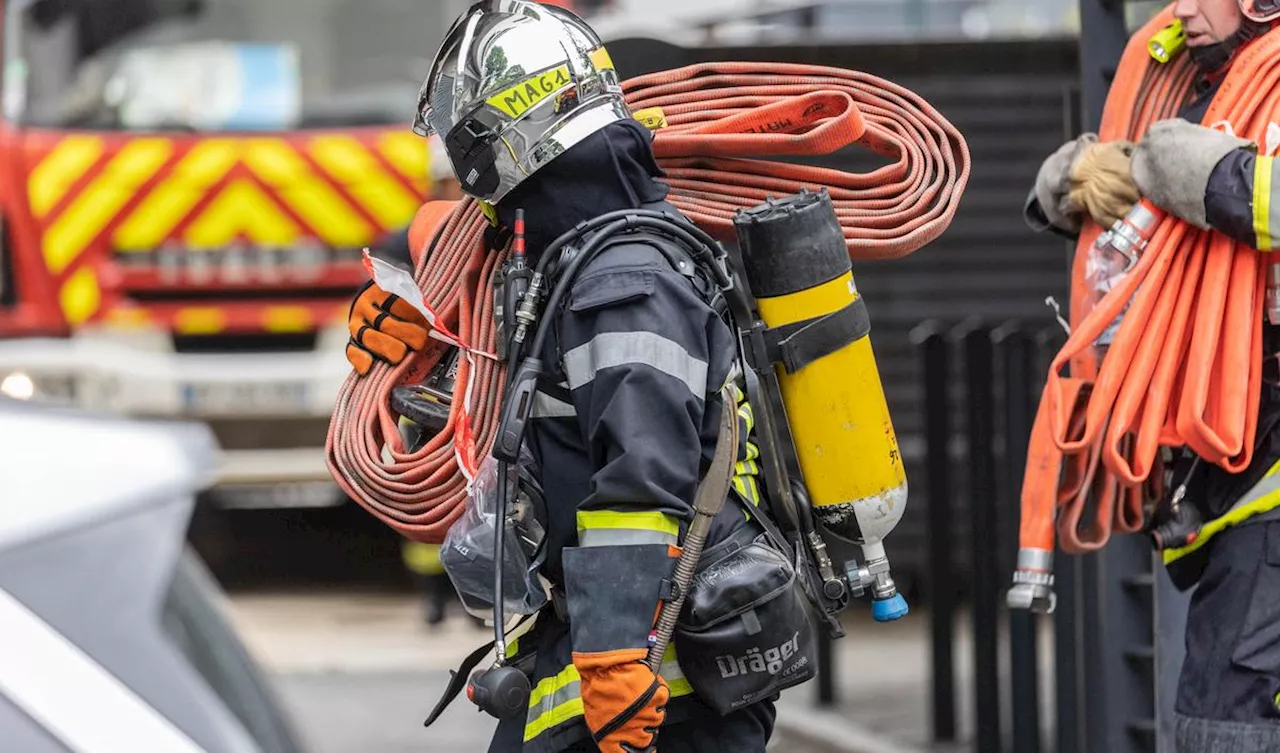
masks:
{"label": "chrome-helmeted firefighter's lowered arm, navy sleeve down to orange glove", "polygon": [[594,465],[564,584],[584,713],[602,750],[643,749],[664,718],[669,689],[643,661],[692,516],[713,316],[654,255],[589,271],[562,319],[564,376]]}

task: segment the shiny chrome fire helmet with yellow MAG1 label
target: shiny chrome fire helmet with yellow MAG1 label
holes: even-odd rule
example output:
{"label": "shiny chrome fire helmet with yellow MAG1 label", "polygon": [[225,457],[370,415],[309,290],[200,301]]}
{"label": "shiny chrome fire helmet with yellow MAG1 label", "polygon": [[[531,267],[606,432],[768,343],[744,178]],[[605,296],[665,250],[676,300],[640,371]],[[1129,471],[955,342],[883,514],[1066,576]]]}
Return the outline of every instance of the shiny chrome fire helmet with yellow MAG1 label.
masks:
{"label": "shiny chrome fire helmet with yellow MAG1 label", "polygon": [[497,204],[575,143],[631,117],[604,44],[579,17],[486,0],[453,23],[413,131],[439,133],[462,190]]}

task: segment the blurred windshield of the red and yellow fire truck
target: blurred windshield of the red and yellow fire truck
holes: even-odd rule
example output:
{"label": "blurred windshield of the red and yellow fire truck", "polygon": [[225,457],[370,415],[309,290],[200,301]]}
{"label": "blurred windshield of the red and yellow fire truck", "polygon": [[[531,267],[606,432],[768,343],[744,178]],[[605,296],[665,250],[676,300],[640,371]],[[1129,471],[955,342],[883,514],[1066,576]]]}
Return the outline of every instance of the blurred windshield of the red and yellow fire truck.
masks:
{"label": "blurred windshield of the red and yellow fire truck", "polygon": [[404,123],[434,53],[415,0],[5,5],[4,110],[28,125],[287,131]]}

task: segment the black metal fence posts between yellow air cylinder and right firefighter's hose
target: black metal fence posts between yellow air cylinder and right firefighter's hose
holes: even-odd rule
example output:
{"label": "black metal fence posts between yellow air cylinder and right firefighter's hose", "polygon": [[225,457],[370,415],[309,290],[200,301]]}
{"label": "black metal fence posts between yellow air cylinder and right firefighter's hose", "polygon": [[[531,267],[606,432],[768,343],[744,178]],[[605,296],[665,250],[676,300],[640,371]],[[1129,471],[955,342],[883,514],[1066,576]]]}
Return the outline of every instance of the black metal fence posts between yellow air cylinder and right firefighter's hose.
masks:
{"label": "black metal fence posts between yellow air cylinder and right firefighter's hose", "polygon": [[[982,753],[1066,750],[1041,739],[1036,616],[1004,607],[1018,552],[1018,510],[1044,369],[1065,333],[1056,324],[997,327],[970,319],[925,321],[911,333],[923,374],[928,469],[928,603],[932,621],[932,724],[937,740],[956,739],[956,594],[970,594],[973,620],[973,749]],[[963,410],[956,410],[957,405]],[[954,419],[959,417],[956,421]],[[955,499],[970,517],[969,562],[952,548]],[[968,574],[968,588],[956,583]],[[1001,621],[1007,621],[1007,662]],[[1009,666],[1007,693],[1000,667]],[[1009,699],[1004,713],[1001,698]],[[1060,711],[1061,713],[1061,711]],[[1012,721],[1011,735],[1001,720]],[[1059,720],[1060,722],[1070,720]]]}

